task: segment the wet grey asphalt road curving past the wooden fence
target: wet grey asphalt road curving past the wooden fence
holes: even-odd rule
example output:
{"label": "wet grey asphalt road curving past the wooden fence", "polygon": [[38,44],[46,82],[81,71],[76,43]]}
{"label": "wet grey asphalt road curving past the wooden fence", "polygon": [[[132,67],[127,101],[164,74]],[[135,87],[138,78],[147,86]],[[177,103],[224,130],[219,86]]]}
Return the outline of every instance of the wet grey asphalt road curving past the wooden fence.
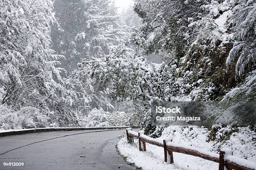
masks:
{"label": "wet grey asphalt road curving past the wooden fence", "polygon": [[1,137],[0,170],[136,170],[115,148],[124,132],[84,130]]}

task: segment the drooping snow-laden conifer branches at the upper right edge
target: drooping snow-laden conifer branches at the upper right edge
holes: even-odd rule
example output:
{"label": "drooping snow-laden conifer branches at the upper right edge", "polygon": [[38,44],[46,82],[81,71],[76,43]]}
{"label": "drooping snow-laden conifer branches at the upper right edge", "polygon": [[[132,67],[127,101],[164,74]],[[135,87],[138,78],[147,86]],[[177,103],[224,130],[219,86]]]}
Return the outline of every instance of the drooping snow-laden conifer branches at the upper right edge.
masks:
{"label": "drooping snow-laden conifer branches at the upper right edge", "polygon": [[236,64],[238,78],[256,69],[256,2],[238,0],[232,14],[229,22],[235,42],[226,64],[228,68]]}

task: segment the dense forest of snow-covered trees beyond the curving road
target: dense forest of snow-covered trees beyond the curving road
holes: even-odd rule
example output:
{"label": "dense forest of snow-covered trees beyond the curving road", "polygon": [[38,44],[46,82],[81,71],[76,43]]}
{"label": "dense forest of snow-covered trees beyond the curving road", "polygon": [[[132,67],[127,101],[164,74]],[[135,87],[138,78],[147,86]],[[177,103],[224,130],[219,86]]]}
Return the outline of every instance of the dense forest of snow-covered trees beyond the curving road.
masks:
{"label": "dense forest of snow-covered trees beyond the curving road", "polygon": [[135,0],[121,13],[112,0],[1,0],[0,9],[0,129],[138,119],[152,133],[154,101],[256,99],[255,0]]}

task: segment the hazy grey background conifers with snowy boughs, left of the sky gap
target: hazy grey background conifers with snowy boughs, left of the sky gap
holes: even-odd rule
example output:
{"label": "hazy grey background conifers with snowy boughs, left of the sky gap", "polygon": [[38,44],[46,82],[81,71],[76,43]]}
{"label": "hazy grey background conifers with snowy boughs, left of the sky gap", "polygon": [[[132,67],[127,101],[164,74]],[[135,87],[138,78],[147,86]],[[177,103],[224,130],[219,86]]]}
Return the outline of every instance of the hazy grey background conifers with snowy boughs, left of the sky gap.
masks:
{"label": "hazy grey background conifers with snowy boughs, left of the sky gap", "polygon": [[82,59],[102,57],[125,35],[117,8],[110,0],[56,0],[53,47],[68,74]]}

